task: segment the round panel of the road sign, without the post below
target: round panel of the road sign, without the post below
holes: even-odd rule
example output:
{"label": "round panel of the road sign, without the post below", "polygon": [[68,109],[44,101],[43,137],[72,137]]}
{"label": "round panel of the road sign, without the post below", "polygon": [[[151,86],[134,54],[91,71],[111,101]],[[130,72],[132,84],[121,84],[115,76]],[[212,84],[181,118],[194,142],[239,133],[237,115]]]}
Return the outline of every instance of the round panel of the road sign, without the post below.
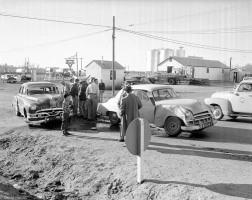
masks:
{"label": "round panel of the road sign, without the post below", "polygon": [[[143,126],[141,126],[141,121]],[[141,131],[143,135],[141,135]],[[146,119],[137,118],[133,120],[126,131],[126,146],[133,155],[139,155],[140,150],[145,151],[150,143],[151,129]],[[143,140],[143,144],[141,143]]]}

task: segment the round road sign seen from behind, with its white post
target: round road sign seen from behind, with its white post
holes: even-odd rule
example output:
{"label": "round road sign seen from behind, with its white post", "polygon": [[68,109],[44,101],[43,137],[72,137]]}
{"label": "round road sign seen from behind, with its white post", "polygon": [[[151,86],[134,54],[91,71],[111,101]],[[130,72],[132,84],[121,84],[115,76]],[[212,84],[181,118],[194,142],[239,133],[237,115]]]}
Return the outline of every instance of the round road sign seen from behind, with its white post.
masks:
{"label": "round road sign seen from behind, with its white post", "polygon": [[150,138],[151,129],[147,120],[137,118],[129,124],[126,131],[126,146],[131,154],[137,155],[137,182],[139,184],[143,182],[141,155],[147,149]]}

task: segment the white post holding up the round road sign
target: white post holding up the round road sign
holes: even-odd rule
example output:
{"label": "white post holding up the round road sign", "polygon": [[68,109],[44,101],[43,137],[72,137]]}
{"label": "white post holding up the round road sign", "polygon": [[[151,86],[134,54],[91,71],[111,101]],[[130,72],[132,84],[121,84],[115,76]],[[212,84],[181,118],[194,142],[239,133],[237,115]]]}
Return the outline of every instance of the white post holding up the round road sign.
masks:
{"label": "white post holding up the round road sign", "polygon": [[142,164],[141,164],[141,156],[142,152],[144,152],[144,121],[143,119],[139,119],[140,121],[140,153],[137,156],[137,182],[139,184],[142,183]]}

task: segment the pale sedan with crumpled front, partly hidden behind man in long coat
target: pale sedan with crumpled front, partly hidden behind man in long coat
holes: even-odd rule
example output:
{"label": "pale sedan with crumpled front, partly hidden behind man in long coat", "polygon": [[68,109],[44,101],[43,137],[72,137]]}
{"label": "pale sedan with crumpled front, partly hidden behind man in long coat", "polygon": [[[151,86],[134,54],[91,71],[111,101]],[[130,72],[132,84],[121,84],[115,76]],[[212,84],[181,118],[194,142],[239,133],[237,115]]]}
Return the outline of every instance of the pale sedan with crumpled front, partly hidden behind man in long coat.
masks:
{"label": "pale sedan with crumpled front, partly hidden behind man in long coat", "polygon": [[[164,127],[169,136],[178,136],[181,131],[203,130],[216,123],[211,106],[194,99],[182,99],[170,86],[133,85],[132,89],[143,105],[139,110],[140,117],[157,127]],[[120,122],[118,101],[121,94],[122,90],[98,105],[98,113],[109,116],[111,124]]]}

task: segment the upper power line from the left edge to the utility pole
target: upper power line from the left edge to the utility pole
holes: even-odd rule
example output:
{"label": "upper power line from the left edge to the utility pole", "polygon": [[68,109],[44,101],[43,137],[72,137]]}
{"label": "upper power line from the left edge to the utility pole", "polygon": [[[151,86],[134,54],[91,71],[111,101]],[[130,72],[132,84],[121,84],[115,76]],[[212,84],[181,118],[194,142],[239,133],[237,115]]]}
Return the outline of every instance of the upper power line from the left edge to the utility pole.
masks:
{"label": "upper power line from the left edge to the utility pole", "polygon": [[84,26],[96,26],[96,27],[103,27],[103,28],[112,28],[111,26],[104,26],[104,25],[99,25],[99,24],[87,24],[87,23],[82,23],[82,22],[64,21],[64,20],[56,20],[56,19],[45,19],[45,18],[28,17],[28,16],[13,15],[13,14],[4,14],[4,13],[0,13],[0,16],[14,17],[14,18],[20,18],[20,19],[39,20],[39,21],[46,21],[46,22],[57,22],[57,23],[64,23],[64,24],[74,24],[74,25],[84,25]]}

